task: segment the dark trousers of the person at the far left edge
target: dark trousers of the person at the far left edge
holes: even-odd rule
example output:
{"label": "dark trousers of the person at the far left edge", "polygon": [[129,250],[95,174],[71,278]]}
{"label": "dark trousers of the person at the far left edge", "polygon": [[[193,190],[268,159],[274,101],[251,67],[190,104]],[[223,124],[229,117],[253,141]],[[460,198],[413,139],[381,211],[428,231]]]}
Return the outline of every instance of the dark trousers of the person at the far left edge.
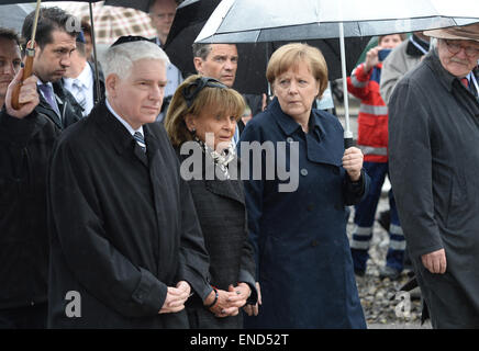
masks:
{"label": "dark trousers of the person at the far left edge", "polygon": [[48,304],[0,309],[0,329],[46,329]]}

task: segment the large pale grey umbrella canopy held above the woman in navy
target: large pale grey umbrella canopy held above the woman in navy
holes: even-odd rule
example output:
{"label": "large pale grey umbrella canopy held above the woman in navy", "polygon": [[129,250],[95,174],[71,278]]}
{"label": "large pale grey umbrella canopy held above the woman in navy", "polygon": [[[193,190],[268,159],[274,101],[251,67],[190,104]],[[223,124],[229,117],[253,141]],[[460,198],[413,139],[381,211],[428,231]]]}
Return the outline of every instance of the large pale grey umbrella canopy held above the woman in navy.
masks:
{"label": "large pale grey umbrella canopy held above the woman in navy", "polygon": [[298,0],[294,7],[289,0],[223,0],[197,41],[339,37],[339,22],[345,37],[381,35],[465,25],[477,19],[477,0]]}

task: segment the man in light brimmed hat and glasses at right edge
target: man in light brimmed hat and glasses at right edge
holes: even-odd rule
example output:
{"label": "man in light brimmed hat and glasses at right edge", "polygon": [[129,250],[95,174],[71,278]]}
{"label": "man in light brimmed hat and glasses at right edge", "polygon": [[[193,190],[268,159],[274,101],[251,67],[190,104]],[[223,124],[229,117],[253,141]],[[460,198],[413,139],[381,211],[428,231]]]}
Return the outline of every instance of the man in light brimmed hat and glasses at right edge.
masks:
{"label": "man in light brimmed hat and glasses at right edge", "polygon": [[434,328],[479,328],[479,24],[437,47],[389,104],[390,173]]}

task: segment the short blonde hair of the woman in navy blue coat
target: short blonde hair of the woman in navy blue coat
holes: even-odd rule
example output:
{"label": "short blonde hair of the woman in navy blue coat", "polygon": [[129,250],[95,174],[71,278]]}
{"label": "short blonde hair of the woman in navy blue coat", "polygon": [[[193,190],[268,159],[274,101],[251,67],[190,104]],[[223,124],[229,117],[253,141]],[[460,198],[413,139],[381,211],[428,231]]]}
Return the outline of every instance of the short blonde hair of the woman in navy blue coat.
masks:
{"label": "short blonde hair of the woman in navy blue coat", "polygon": [[278,76],[302,64],[309,66],[320,87],[321,97],[327,88],[327,65],[321,50],[308,44],[290,43],[272,53],[266,69],[266,79],[275,88],[274,82]]}

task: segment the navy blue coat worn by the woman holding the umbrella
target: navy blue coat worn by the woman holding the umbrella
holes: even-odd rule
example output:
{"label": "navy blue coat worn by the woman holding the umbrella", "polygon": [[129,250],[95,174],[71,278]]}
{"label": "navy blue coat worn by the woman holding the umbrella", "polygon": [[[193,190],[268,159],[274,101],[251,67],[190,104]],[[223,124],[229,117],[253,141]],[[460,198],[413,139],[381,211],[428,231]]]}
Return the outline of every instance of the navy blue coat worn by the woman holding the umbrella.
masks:
{"label": "navy blue coat worn by the woman holding the umbrella", "polygon": [[[280,148],[278,141],[286,141],[287,169],[292,163],[292,143],[298,143],[299,180],[292,192],[278,191],[278,184],[288,180],[280,181],[277,171],[272,180],[270,176],[265,180],[263,172],[261,180],[245,181],[249,235],[263,295],[259,315],[247,318],[246,327],[365,328],[345,205],[360,201],[369,179],[363,172],[358,182],[352,182],[343,169],[341,123],[326,112],[312,110],[305,134],[275,99],[246,125],[241,141],[254,140],[272,141],[275,152]],[[258,163],[253,157],[247,160],[246,154],[239,149],[243,166]],[[278,155],[276,160],[281,158]],[[267,158],[264,151],[263,171]]]}

